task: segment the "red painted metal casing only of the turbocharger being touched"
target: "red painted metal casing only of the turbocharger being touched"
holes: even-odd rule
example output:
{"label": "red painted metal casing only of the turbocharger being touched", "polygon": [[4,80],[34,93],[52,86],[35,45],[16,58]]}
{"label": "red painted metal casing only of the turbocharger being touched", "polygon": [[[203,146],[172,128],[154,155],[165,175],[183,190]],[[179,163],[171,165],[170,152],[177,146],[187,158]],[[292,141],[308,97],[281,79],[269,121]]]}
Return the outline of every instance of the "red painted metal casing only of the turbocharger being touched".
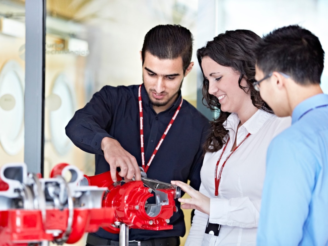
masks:
{"label": "red painted metal casing only of the turbocharger being touched", "polygon": [[[153,196],[153,194],[150,193],[149,188],[144,187],[142,181],[130,181],[123,185],[114,186],[110,172],[88,177],[88,180],[89,185],[108,187],[109,192],[103,199],[103,207],[114,209],[115,221],[123,222],[130,228],[135,229],[158,231],[173,228],[172,225],[167,223],[173,212],[176,212],[173,190],[160,190],[167,195],[168,204],[161,206],[161,211],[158,215],[149,216],[146,213],[145,205],[147,199]],[[111,233],[119,233],[119,228],[115,226],[103,228]]]}

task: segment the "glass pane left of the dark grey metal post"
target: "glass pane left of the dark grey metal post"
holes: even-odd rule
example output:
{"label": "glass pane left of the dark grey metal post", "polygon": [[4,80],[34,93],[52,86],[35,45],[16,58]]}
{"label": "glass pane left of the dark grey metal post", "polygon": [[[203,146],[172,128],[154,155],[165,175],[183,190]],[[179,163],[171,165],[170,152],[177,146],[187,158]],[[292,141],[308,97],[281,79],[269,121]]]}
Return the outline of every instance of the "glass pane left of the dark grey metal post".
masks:
{"label": "glass pane left of the dark grey metal post", "polygon": [[24,162],[25,4],[0,1],[0,166]]}

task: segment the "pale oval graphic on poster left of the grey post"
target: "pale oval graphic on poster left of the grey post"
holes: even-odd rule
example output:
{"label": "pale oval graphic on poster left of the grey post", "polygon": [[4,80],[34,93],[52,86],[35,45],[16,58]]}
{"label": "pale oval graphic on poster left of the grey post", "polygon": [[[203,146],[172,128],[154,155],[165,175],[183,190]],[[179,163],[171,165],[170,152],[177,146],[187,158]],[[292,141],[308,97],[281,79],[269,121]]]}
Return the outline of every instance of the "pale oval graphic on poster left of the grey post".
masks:
{"label": "pale oval graphic on poster left of the grey post", "polygon": [[0,144],[9,155],[24,145],[24,71],[14,60],[0,72]]}

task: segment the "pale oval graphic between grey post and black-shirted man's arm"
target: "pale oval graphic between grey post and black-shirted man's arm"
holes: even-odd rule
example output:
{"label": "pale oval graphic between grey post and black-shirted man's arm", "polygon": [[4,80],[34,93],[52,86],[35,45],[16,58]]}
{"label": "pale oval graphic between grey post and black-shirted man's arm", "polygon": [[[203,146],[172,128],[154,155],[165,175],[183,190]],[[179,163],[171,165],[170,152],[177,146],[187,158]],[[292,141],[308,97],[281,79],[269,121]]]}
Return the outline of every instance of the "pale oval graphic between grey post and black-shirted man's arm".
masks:
{"label": "pale oval graphic between grey post and black-shirted man's arm", "polygon": [[[71,89],[71,83],[64,73],[60,73],[53,83],[51,90],[52,99],[47,103],[53,103],[54,98],[59,96],[60,104],[57,107],[52,107],[54,110],[50,111],[50,132],[51,142],[55,150],[60,155],[65,155],[72,147],[71,140],[66,136],[65,127],[67,123],[72,119],[75,113],[75,94]],[[48,105],[47,108],[51,108],[52,105]],[[58,108],[58,109],[56,109]]]}

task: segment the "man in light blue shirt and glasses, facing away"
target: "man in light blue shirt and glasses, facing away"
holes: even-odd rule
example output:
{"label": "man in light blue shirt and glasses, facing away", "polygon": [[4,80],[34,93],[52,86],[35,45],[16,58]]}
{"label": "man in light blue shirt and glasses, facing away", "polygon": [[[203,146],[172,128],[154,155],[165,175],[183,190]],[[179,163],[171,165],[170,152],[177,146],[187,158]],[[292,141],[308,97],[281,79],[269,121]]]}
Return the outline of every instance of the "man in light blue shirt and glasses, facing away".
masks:
{"label": "man in light blue shirt and glasses, facing away", "polygon": [[257,245],[328,245],[328,95],[320,88],[324,51],[297,25],[256,48],[254,86],[292,126],[267,152]]}

